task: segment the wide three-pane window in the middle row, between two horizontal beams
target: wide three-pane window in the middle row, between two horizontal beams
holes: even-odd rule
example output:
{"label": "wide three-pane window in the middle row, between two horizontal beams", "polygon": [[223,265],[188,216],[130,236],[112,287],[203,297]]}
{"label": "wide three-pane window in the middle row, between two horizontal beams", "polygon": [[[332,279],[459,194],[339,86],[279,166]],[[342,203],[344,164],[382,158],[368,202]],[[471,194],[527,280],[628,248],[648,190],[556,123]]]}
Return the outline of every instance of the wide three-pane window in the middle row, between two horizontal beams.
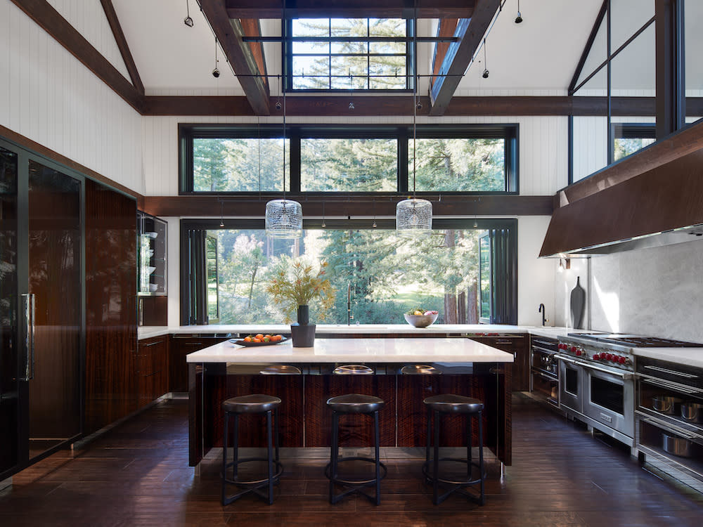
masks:
{"label": "wide three-pane window in the middle row, between two horizontal beams", "polygon": [[[283,191],[281,126],[181,124],[181,193]],[[517,193],[517,125],[288,126],[292,193]],[[413,144],[417,155],[413,155]]]}

